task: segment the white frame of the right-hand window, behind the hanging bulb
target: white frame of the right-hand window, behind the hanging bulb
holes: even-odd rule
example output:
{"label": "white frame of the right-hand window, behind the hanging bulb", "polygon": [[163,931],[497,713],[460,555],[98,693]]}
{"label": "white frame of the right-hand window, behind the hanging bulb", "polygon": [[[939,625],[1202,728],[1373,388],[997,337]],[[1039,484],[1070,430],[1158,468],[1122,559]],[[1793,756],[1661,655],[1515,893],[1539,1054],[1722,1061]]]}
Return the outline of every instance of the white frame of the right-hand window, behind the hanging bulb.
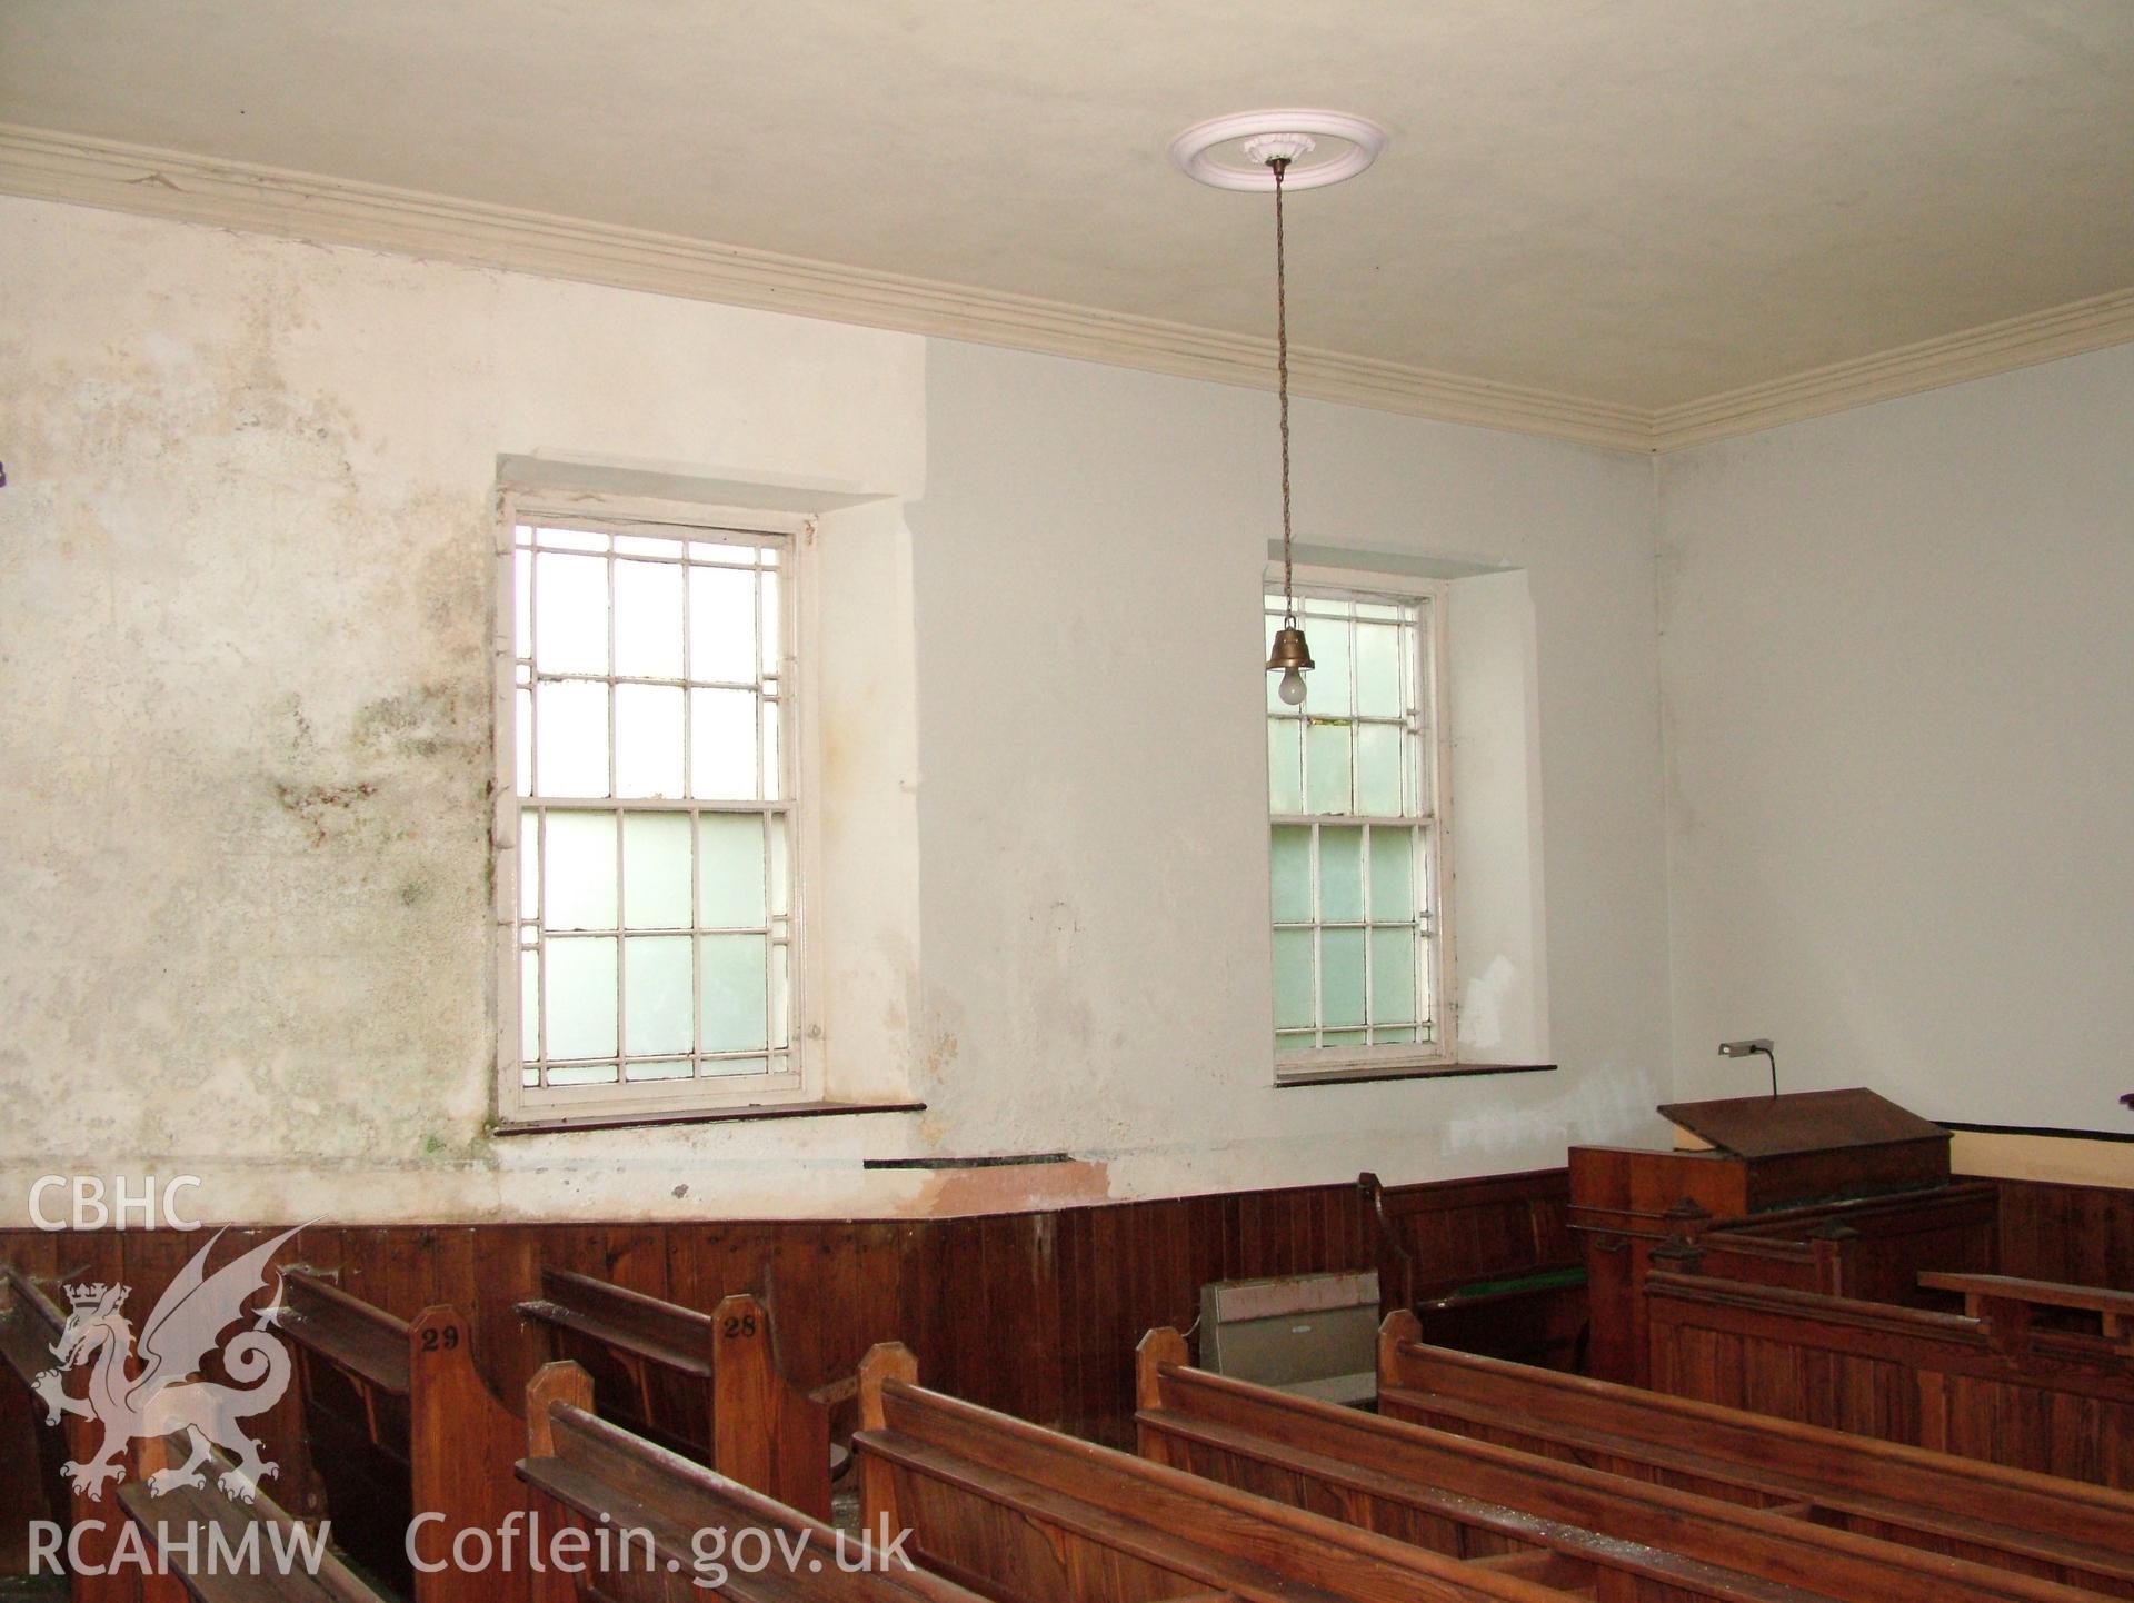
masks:
{"label": "white frame of the right-hand window, behind the hanging bulb", "polygon": [[[1268,564],[1265,581],[1261,585],[1261,613],[1268,610],[1270,598],[1274,598],[1283,587],[1283,566],[1278,561]],[[1349,568],[1306,568],[1297,566],[1293,574],[1293,593],[1302,602],[1306,598],[1321,600],[1342,600],[1342,602],[1419,602],[1423,606],[1423,628],[1419,651],[1426,653],[1417,664],[1419,683],[1430,685],[1430,704],[1423,709],[1430,717],[1430,739],[1426,749],[1430,753],[1430,775],[1426,785],[1428,815],[1423,820],[1402,820],[1402,822],[1423,822],[1426,858],[1430,862],[1430,888],[1436,894],[1436,907],[1430,909],[1430,982],[1432,982],[1432,1035],[1428,1046],[1394,1042],[1385,1046],[1349,1046],[1329,1048],[1315,1046],[1306,1052],[1274,1052],[1274,1080],[1276,1084],[1308,1084],[1312,1080],[1327,1078],[1364,1078],[1370,1074],[1415,1074],[1426,1069],[1449,1069],[1460,1061],[1460,993],[1455,988],[1455,946],[1453,946],[1453,852],[1451,852],[1451,698],[1449,698],[1449,666],[1451,660],[1445,649],[1445,600],[1447,585],[1440,578],[1415,578],[1408,574],[1383,574],[1383,572],[1361,572]],[[1310,638],[1310,619],[1300,615],[1300,625],[1306,638]],[[1310,672],[1304,674],[1306,685],[1310,685]],[[1310,700],[1306,698],[1306,709]],[[1261,726],[1265,726],[1265,711],[1261,711]],[[1261,756],[1265,758],[1265,739],[1261,739]],[[1268,777],[1261,779],[1261,796],[1268,794]],[[1317,822],[1317,824],[1383,824],[1394,820],[1366,820],[1349,815],[1329,813],[1297,813],[1297,815],[1276,815],[1270,807],[1268,828],[1272,830],[1276,822]],[[1270,837],[1272,841],[1272,837]],[[1270,845],[1270,875],[1268,875],[1268,973],[1274,973],[1274,875],[1272,875],[1272,845]],[[1272,1016],[1270,1016],[1270,1039]]]}

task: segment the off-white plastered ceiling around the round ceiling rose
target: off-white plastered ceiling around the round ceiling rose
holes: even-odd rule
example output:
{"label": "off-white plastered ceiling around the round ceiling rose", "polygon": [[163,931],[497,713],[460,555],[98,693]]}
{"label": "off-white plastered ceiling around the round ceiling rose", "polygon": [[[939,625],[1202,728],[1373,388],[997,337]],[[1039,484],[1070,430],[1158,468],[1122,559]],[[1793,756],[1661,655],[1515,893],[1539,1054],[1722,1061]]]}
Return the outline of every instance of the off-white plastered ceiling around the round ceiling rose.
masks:
{"label": "off-white plastered ceiling around the round ceiling rose", "polygon": [[1667,408],[2134,286],[2134,0],[0,0],[0,122]]}

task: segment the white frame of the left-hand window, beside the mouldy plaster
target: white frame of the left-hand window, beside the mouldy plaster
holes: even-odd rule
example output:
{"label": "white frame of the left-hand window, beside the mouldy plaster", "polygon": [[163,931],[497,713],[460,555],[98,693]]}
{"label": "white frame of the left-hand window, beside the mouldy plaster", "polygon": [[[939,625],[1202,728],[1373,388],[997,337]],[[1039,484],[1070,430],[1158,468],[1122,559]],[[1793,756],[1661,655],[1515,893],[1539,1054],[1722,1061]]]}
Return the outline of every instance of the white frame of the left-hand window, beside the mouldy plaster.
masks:
{"label": "white frame of the left-hand window, beside the mouldy plaster", "polygon": [[[519,717],[516,717],[516,529],[523,523],[664,538],[721,534],[781,536],[779,572],[779,758],[787,792],[787,1069],[698,1080],[644,1080],[589,1086],[523,1084],[519,995]],[[510,491],[497,497],[495,581],[491,608],[495,745],[495,809],[491,864],[495,879],[495,1106],[497,1127],[512,1125],[617,1125],[755,1106],[819,1101],[824,1097],[822,943],[813,937],[819,864],[819,760],[815,728],[815,519],[764,508],[706,506],[595,493]],[[612,732],[610,732],[612,739]],[[591,803],[598,809],[598,800]],[[623,809],[617,809],[623,811]]]}

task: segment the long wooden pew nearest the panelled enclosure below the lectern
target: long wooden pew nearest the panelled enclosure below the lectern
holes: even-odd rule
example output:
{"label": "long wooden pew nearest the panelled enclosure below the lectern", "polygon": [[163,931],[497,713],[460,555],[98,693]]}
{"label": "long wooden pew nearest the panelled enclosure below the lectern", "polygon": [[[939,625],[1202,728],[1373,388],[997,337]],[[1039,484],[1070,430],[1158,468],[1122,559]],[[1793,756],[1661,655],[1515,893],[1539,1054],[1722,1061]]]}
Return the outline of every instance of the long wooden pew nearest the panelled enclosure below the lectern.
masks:
{"label": "long wooden pew nearest the panelled enclosure below the lectern", "polygon": [[1840,1530],[2134,1597],[2134,1496],[1426,1347],[1398,1313],[1379,1413]]}

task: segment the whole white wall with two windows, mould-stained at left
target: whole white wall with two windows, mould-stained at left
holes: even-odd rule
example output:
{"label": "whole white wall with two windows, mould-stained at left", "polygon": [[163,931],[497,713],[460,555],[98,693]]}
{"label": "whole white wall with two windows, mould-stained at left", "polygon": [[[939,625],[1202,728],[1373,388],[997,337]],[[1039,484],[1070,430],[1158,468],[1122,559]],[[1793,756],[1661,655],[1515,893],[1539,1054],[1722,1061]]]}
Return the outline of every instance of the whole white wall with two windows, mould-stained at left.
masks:
{"label": "whole white wall with two windows, mould-stained at left", "polygon": [[[1297,410],[1304,538],[1524,570],[1564,1069],[1278,1093],[1268,397],[28,201],[0,239],[0,1223],[51,1168],[352,1221],[1421,1178],[1667,1093],[1647,463]],[[886,497],[824,529],[826,828],[875,869],[830,1050],[924,1118],[484,1133],[506,455]],[[860,1168],[1033,1148],[1082,1161]]]}

